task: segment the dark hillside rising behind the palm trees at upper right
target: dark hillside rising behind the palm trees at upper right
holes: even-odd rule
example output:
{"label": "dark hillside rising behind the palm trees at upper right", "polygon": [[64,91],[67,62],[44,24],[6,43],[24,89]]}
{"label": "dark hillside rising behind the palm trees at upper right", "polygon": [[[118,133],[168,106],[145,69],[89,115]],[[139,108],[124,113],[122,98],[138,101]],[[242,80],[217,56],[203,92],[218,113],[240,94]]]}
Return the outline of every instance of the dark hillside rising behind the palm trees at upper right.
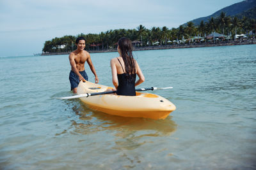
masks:
{"label": "dark hillside rising behind the palm trees at upper right", "polygon": [[219,17],[221,12],[226,13],[227,16],[237,16],[239,18],[242,18],[243,16],[246,16],[248,18],[255,18],[256,19],[256,0],[246,0],[242,1],[240,3],[232,4],[230,6],[227,6],[225,8],[222,8],[221,10],[216,11],[212,15],[209,15],[207,17],[201,17],[197,18],[195,20],[191,20],[195,25],[199,25],[200,22],[203,20],[204,22],[208,22],[208,20],[213,17]]}

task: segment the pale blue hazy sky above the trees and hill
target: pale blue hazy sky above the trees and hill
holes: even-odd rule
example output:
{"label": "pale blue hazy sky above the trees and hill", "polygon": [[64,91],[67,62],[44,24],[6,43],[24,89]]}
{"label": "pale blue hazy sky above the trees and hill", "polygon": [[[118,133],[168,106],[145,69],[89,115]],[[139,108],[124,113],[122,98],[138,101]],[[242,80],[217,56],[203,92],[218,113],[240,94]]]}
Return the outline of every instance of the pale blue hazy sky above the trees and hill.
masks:
{"label": "pale blue hazy sky above the trees and hill", "polygon": [[177,28],[243,0],[0,0],[0,57],[42,53],[45,41],[110,29]]}

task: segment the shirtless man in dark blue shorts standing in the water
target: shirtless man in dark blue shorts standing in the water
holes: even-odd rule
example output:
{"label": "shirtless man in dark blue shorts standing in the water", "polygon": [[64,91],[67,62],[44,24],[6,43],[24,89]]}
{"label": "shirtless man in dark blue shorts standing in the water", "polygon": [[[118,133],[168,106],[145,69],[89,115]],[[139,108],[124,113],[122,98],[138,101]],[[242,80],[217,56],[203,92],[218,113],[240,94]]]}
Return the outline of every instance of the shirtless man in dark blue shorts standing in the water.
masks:
{"label": "shirtless man in dark blue shorts standing in the water", "polygon": [[84,50],[85,39],[83,37],[77,38],[76,45],[77,45],[77,49],[74,50],[74,52],[71,52],[68,57],[70,66],[71,66],[71,71],[69,73],[69,81],[70,81],[71,90],[73,90],[73,93],[77,93],[77,86],[79,84],[79,81],[88,80],[88,76],[84,70],[85,62],[88,63],[92,73],[95,75],[95,83],[99,82],[95,68],[92,64],[90,53]]}

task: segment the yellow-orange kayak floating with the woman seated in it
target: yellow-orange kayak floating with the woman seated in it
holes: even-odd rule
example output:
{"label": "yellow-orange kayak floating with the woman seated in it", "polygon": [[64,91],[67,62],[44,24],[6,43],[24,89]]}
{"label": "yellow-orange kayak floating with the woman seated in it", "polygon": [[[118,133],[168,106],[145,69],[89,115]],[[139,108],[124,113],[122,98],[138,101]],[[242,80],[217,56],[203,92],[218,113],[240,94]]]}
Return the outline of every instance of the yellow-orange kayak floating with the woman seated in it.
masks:
{"label": "yellow-orange kayak floating with the woman seated in it", "polygon": [[[99,85],[90,81],[80,81],[77,94],[105,92],[113,87]],[[102,94],[99,96],[80,97],[88,108],[121,117],[143,117],[164,119],[176,109],[175,105],[156,94],[136,92],[136,96],[118,96]]]}

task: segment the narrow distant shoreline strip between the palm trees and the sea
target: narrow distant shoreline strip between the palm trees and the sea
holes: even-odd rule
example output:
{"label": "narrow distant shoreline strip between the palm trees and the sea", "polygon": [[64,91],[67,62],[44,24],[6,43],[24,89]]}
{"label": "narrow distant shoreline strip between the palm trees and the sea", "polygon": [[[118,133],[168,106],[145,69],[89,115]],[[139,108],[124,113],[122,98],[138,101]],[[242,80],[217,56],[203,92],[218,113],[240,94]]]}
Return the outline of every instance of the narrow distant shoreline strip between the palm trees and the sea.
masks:
{"label": "narrow distant shoreline strip between the palm trees and the sea", "polygon": [[[143,50],[166,50],[177,48],[200,48],[210,46],[232,46],[232,45],[253,45],[256,44],[256,39],[248,39],[243,41],[219,41],[217,43],[189,43],[189,44],[175,44],[175,45],[157,45],[157,46],[134,46],[133,51]],[[116,49],[109,50],[88,50],[89,53],[107,53],[117,52]],[[68,55],[70,52],[55,52],[55,53],[38,53],[36,55]]]}

